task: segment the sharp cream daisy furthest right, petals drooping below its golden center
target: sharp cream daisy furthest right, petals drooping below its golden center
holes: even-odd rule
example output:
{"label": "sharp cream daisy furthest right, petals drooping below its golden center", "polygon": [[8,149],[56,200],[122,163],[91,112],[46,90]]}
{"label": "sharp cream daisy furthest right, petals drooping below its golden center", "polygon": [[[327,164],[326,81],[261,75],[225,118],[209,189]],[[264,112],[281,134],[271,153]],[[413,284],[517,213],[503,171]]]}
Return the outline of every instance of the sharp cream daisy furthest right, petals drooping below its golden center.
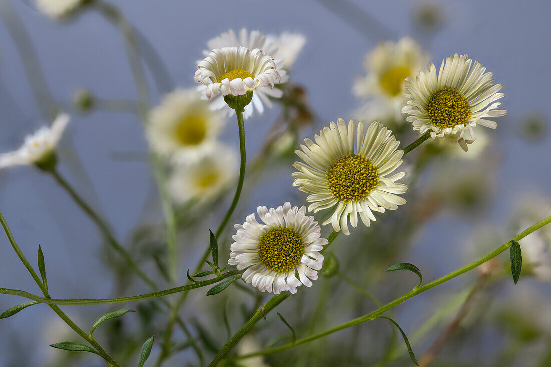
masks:
{"label": "sharp cream daisy furthest right, petals drooping below its golden center", "polygon": [[[505,94],[498,93],[502,84],[494,84],[492,73],[478,61],[465,55],[449,56],[442,61],[440,71],[430,64],[430,70],[423,70],[417,78],[407,78],[407,105],[402,113],[409,114],[407,121],[420,133],[430,131],[431,138],[455,134],[463,150],[476,139],[473,128],[477,124],[495,129],[497,124],[485,117],[507,114],[496,110],[496,100]],[[469,71],[470,70],[470,71]],[[466,138],[467,133],[468,138]]]}

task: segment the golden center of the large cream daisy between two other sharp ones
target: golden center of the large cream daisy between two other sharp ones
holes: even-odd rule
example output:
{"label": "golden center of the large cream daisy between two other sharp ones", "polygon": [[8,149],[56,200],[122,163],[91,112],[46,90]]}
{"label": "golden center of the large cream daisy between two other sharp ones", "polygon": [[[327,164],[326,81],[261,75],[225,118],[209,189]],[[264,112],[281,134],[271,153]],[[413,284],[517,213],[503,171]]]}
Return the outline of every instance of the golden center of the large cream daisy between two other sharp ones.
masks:
{"label": "golden center of the large cream daisy between two other sharp ones", "polygon": [[365,156],[349,154],[329,166],[325,179],[333,197],[348,203],[365,199],[379,184],[379,172]]}

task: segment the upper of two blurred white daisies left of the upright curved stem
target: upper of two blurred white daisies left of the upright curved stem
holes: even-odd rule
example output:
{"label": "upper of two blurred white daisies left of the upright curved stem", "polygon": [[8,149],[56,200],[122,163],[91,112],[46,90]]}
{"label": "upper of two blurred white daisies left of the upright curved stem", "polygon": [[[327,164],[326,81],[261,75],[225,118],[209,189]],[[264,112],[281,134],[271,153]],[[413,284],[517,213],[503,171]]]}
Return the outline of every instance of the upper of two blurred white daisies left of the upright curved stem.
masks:
{"label": "upper of two blurred white daisies left of the upright curved stem", "polygon": [[213,149],[226,120],[197,90],[178,89],[151,111],[145,133],[155,152],[177,160],[197,159]]}

